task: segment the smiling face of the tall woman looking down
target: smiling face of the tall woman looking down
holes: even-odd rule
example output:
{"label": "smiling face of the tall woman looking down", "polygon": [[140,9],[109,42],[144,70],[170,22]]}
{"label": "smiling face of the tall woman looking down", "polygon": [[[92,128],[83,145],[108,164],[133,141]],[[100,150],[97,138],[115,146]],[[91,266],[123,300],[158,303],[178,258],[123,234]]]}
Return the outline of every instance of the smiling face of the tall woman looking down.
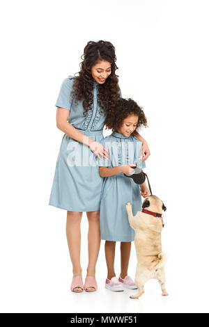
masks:
{"label": "smiling face of the tall woman looking down", "polygon": [[91,74],[95,81],[104,84],[107,77],[111,74],[111,63],[109,61],[99,61],[91,67]]}

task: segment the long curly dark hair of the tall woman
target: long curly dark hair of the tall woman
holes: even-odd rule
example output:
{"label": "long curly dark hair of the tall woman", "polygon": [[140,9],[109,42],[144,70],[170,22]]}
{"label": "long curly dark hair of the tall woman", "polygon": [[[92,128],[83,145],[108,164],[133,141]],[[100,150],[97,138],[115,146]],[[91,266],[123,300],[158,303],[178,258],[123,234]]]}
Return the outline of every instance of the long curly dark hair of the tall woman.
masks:
{"label": "long curly dark hair of the tall woman", "polygon": [[[108,61],[111,63],[111,74],[104,82],[99,85],[98,88],[98,104],[103,111],[109,111],[120,97],[120,88],[118,86],[118,75],[116,75],[116,54],[115,48],[111,42],[89,41],[84,47],[83,59],[80,63],[79,76],[75,77],[75,83],[73,83],[72,96],[75,98],[75,104],[77,101],[83,99],[84,116],[88,109],[92,110],[93,104],[93,77],[91,74],[91,67],[100,61]],[[100,113],[102,113],[100,110]]]}

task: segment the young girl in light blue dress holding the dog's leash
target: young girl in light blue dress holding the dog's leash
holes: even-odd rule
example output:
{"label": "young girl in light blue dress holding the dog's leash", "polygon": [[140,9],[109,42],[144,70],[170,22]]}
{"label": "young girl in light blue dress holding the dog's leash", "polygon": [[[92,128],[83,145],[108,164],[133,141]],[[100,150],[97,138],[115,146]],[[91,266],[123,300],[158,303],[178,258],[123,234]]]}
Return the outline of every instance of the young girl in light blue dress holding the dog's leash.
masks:
{"label": "young girl in light blue dress holding the dog's leash", "polygon": [[[146,183],[135,184],[131,175],[131,166],[144,168],[141,156],[141,141],[134,136],[140,125],[146,127],[144,111],[132,99],[119,99],[104,122],[113,133],[102,139],[101,143],[109,150],[109,159],[99,160],[100,176],[104,177],[100,201],[100,235],[105,239],[105,257],[107,262],[107,279],[105,287],[111,291],[123,291],[123,287],[137,288],[127,268],[130,259],[131,242],[134,230],[130,227],[125,203],[132,203],[133,214],[141,210],[141,196],[148,196]],[[131,135],[132,134],[132,135]],[[121,274],[116,278],[114,257],[116,241],[121,241]]]}

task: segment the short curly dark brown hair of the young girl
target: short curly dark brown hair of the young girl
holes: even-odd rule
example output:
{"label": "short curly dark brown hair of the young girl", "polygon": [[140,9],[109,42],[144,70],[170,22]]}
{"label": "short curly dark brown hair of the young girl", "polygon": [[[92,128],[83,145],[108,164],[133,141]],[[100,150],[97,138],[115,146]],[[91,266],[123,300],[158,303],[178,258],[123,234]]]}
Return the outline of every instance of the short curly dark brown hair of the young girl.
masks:
{"label": "short curly dark brown hair of the young girl", "polygon": [[[129,115],[137,115],[139,117],[137,127],[140,127],[141,125],[148,127],[143,107],[138,106],[137,102],[133,99],[123,99],[122,97],[116,102],[114,110],[109,111],[107,114],[104,125],[106,126],[106,129],[118,131],[123,124],[123,120]],[[136,129],[133,131],[132,136],[136,134]]]}

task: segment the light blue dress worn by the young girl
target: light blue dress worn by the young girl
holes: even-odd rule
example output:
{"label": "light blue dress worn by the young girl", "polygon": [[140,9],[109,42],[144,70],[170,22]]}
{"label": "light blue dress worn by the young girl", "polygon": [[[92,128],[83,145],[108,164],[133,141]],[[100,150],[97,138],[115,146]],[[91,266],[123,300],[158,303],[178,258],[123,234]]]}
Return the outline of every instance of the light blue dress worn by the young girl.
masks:
{"label": "light blue dress worn by the young girl", "polygon": [[[144,168],[141,157],[141,141],[133,136],[124,136],[113,132],[100,141],[109,150],[109,159],[99,159],[99,166],[116,167],[127,163],[137,163]],[[131,174],[130,174],[131,175]],[[141,210],[141,193],[138,184],[132,178],[118,173],[104,177],[100,201],[100,233],[101,239],[107,241],[134,241],[134,230],[130,227],[125,209],[126,202],[132,204],[133,214]]]}

